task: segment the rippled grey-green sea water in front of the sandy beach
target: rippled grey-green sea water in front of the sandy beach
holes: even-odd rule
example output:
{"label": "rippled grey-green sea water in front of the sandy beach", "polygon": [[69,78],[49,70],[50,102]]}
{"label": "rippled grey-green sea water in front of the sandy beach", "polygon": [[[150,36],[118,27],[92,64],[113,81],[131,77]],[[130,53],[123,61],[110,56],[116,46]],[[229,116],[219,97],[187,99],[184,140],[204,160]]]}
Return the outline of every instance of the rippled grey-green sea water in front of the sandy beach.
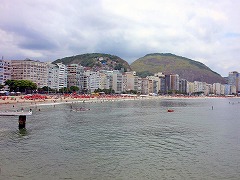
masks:
{"label": "rippled grey-green sea water in front of the sandy beach", "polygon": [[0,179],[240,178],[240,99],[31,108],[25,131],[18,130],[18,117],[0,117]]}

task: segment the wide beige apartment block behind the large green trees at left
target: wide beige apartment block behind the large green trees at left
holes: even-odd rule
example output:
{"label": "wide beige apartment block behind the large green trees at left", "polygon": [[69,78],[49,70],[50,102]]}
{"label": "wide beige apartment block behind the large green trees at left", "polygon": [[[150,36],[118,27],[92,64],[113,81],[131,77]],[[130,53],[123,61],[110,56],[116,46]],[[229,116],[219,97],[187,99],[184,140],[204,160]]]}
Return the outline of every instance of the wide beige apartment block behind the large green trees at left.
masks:
{"label": "wide beige apartment block behind the large green trees at left", "polygon": [[11,60],[12,80],[30,80],[37,87],[47,86],[47,63],[34,60]]}

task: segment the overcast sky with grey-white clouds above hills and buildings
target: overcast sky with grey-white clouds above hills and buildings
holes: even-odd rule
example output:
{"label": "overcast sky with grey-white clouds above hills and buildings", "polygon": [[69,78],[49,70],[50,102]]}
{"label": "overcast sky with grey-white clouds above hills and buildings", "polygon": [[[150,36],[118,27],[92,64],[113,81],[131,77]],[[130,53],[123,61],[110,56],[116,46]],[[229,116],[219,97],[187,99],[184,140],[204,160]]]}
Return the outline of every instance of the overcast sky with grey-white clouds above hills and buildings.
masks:
{"label": "overcast sky with grey-white clouds above hills and buildings", "polygon": [[240,72],[239,0],[1,0],[0,56],[173,53]]}

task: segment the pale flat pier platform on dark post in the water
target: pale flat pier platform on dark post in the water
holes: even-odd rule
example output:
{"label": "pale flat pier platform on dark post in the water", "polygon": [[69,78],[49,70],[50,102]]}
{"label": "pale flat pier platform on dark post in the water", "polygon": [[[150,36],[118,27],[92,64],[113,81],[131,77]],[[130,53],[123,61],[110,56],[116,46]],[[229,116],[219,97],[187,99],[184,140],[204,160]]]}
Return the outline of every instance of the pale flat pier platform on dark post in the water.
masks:
{"label": "pale flat pier platform on dark post in the water", "polygon": [[23,111],[5,111],[0,112],[0,116],[18,116],[18,128],[25,129],[26,128],[26,116],[32,115],[32,111],[23,112]]}

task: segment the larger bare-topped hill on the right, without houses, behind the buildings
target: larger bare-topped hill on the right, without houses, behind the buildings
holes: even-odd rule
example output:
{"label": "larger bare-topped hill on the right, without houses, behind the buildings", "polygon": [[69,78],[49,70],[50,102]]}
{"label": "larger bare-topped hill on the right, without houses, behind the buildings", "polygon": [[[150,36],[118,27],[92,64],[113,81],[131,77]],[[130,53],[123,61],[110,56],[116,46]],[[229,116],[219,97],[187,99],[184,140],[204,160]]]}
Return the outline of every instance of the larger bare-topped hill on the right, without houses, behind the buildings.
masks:
{"label": "larger bare-topped hill on the right, without houses, behind the buildings", "polygon": [[140,74],[154,74],[157,72],[163,72],[164,74],[174,73],[190,82],[201,81],[210,84],[226,82],[222,76],[212,71],[203,63],[171,53],[147,54],[134,61],[130,66],[133,71]]}

